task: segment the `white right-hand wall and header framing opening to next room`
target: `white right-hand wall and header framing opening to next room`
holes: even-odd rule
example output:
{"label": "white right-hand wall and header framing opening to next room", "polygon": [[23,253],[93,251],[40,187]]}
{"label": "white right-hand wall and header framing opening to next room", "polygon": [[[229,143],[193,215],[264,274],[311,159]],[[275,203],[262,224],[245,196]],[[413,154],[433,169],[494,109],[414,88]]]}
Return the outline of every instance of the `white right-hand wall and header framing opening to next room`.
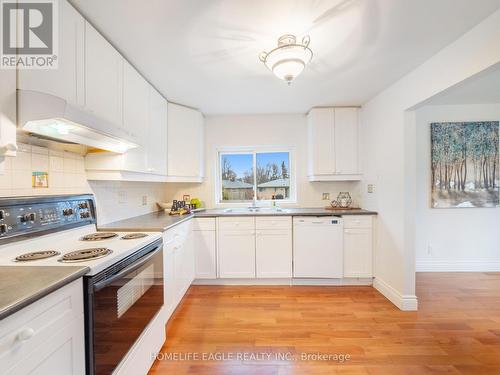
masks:
{"label": "white right-hand wall and header framing opening to next room", "polygon": [[417,308],[415,123],[406,111],[499,62],[497,11],[363,106],[363,186],[376,185],[363,202],[379,212],[374,286],[402,309]]}

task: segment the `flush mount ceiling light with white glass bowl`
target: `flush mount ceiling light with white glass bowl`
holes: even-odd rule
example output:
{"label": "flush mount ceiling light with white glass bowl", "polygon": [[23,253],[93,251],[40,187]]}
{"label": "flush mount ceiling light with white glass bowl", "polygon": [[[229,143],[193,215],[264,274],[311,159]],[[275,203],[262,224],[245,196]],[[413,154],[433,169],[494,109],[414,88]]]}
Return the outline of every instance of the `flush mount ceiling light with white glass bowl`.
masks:
{"label": "flush mount ceiling light with white glass bowl", "polygon": [[283,35],[278,39],[278,47],[262,52],[259,59],[276,77],[290,84],[312,59],[309,42],[309,36],[303,37],[302,43],[297,43],[295,35]]}

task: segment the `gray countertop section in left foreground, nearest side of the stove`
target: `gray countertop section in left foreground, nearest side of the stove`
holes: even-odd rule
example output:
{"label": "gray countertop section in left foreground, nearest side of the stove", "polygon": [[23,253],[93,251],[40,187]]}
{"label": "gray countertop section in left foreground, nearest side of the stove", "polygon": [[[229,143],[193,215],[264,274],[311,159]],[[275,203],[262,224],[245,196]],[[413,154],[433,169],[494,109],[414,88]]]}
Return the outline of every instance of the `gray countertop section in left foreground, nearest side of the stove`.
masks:
{"label": "gray countertop section in left foreground, nearest side of the stove", "polygon": [[0,266],[0,320],[88,271],[78,266]]}

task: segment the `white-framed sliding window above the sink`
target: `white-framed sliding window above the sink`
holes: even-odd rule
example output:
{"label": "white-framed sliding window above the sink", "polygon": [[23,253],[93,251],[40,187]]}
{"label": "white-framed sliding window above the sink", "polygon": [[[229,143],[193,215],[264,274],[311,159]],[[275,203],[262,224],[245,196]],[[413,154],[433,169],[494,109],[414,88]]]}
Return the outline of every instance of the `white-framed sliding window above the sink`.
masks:
{"label": "white-framed sliding window above the sink", "polygon": [[218,203],[291,201],[290,151],[219,153]]}

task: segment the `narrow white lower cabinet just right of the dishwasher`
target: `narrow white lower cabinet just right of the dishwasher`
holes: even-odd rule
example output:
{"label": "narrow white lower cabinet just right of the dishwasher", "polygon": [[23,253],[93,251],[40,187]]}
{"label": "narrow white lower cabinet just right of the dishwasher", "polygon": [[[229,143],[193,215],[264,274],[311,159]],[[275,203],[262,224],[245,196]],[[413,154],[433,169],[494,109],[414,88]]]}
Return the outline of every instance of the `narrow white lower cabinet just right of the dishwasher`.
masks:
{"label": "narrow white lower cabinet just right of the dishwasher", "polygon": [[373,276],[373,230],[370,216],[344,219],[344,277]]}

